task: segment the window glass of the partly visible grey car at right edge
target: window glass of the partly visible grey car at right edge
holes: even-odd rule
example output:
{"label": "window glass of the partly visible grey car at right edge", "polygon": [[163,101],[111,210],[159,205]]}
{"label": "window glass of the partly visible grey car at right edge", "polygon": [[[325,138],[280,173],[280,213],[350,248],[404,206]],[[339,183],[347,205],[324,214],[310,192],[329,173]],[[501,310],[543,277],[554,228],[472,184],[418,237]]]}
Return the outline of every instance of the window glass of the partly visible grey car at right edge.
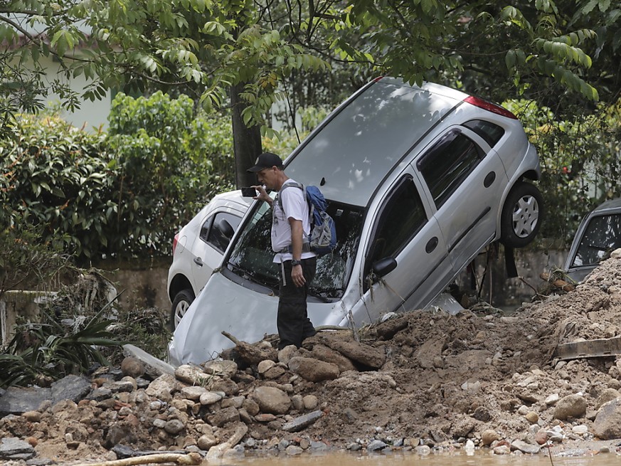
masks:
{"label": "window glass of the partly visible grey car at right edge", "polygon": [[580,240],[572,267],[597,265],[621,247],[621,215],[593,217]]}

